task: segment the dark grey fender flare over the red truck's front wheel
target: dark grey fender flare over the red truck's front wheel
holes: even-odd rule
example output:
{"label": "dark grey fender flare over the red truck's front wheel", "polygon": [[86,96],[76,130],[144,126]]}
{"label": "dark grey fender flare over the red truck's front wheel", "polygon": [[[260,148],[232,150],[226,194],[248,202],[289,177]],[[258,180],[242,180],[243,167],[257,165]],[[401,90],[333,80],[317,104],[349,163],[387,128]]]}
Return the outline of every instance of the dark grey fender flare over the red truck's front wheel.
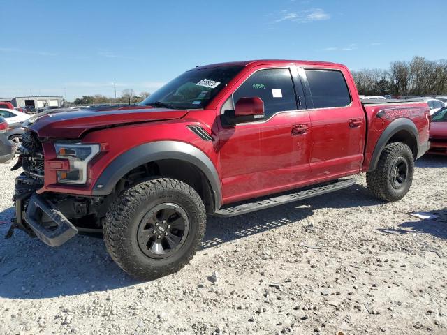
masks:
{"label": "dark grey fender flare over the red truck's front wheel", "polygon": [[200,149],[179,141],[149,142],[120,154],[96,179],[92,195],[109,195],[126,173],[142,164],[162,159],[178,159],[195,165],[210,183],[214,196],[214,209],[218,210],[221,207],[221,182],[214,164]]}

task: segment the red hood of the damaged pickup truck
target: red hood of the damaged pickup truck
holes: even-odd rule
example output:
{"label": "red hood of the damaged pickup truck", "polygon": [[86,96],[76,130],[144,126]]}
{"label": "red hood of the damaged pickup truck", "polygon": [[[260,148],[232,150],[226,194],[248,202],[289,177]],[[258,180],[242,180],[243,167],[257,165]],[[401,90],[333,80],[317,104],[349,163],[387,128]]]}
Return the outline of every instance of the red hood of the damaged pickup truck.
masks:
{"label": "red hood of the damaged pickup truck", "polygon": [[180,119],[187,110],[149,106],[91,108],[47,114],[28,128],[39,137],[79,138],[86,131],[142,122]]}

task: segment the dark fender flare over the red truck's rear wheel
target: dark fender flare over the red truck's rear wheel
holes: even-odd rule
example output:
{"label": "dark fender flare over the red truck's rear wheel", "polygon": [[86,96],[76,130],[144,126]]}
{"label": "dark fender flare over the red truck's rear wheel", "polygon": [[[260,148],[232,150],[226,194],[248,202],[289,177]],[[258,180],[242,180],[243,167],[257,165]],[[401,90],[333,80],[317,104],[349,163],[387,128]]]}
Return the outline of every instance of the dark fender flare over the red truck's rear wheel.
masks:
{"label": "dark fender flare over the red truck's rear wheel", "polygon": [[[395,119],[385,128],[383,133],[381,133],[379,140],[376,142],[376,147],[374,147],[374,151],[372,153],[371,161],[369,162],[368,172],[372,172],[376,170],[377,163],[379,162],[380,155],[383,151],[383,148],[386,146],[388,141],[400,131],[408,131],[413,139],[416,141],[416,151],[418,151],[419,147],[419,133],[418,128],[410,119],[406,119],[405,117],[400,117],[399,119]],[[418,152],[416,152],[415,159],[418,157]]]}

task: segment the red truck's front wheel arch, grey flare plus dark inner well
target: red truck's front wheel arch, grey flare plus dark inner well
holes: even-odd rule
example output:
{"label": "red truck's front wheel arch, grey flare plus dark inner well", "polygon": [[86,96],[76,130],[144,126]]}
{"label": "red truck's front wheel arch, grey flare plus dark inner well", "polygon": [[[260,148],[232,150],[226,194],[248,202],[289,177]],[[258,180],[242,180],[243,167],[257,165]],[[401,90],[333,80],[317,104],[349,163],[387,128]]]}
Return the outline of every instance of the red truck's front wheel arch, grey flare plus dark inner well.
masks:
{"label": "red truck's front wheel arch, grey flare plus dark inner well", "polygon": [[148,165],[154,168],[152,172],[155,174],[166,171],[170,166],[168,176],[186,184],[189,184],[188,177],[201,177],[205,187],[204,193],[199,194],[210,197],[212,202],[207,211],[212,213],[221,207],[221,182],[214,164],[200,149],[178,141],[149,142],[120,154],[96,179],[92,195],[110,195],[127,174]]}

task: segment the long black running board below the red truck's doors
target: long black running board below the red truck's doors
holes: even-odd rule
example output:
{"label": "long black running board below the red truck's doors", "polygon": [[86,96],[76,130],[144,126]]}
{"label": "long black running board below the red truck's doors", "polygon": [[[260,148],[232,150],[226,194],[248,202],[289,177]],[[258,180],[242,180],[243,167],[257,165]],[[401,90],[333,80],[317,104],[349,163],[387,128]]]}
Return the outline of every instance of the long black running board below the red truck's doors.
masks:
{"label": "long black running board below the red truck's doors", "polygon": [[219,211],[214,213],[214,216],[230,218],[232,216],[247,214],[251,213],[252,211],[258,211],[260,209],[266,209],[278,206],[280,204],[288,204],[290,202],[312,198],[316,195],[323,195],[325,193],[342,190],[343,188],[352,186],[353,184],[356,184],[356,179],[344,179],[335,181],[331,184],[324,184],[315,186],[314,188],[307,188],[304,191],[298,191],[286,195],[279,195],[273,198],[266,198],[255,202],[247,202],[244,204],[238,204],[234,207],[220,209]]}

